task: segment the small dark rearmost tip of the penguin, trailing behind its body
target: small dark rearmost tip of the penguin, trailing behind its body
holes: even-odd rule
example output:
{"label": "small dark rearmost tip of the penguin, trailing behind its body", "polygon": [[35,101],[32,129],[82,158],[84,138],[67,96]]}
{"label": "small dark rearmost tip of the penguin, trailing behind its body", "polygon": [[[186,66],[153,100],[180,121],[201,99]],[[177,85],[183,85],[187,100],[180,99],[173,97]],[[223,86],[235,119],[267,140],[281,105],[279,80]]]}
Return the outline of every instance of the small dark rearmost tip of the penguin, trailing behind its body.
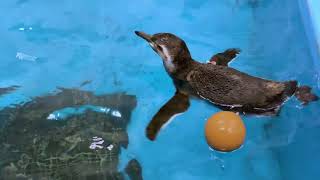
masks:
{"label": "small dark rearmost tip of the penguin, trailing behind its body", "polygon": [[299,86],[295,92],[296,98],[302,102],[302,105],[307,105],[309,102],[319,100],[319,97],[311,92],[312,88],[309,86]]}

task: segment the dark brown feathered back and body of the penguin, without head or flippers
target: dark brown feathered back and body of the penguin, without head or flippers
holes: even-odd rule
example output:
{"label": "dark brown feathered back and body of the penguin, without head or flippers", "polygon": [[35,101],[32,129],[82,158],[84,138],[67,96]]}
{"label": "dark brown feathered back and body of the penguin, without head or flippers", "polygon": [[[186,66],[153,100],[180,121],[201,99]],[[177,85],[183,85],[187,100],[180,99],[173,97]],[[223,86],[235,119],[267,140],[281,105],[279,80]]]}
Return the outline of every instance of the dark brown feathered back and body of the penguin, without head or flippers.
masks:
{"label": "dark brown feathered back and body of the penguin, without head or flippers", "polygon": [[194,65],[189,76],[188,83],[201,98],[223,109],[257,114],[278,110],[295,92],[297,84],[265,80],[230,67],[201,63]]}

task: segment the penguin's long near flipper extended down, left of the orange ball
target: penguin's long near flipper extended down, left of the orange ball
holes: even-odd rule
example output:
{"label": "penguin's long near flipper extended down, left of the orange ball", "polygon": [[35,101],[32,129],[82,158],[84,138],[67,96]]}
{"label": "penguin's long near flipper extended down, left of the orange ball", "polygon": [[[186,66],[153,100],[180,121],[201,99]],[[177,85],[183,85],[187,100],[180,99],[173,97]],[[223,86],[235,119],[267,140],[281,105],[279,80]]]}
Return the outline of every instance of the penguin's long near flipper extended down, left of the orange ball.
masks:
{"label": "penguin's long near flipper extended down, left of the orange ball", "polygon": [[173,116],[185,112],[190,106],[189,96],[179,91],[155,114],[146,128],[146,136],[151,141],[155,140],[160,129]]}

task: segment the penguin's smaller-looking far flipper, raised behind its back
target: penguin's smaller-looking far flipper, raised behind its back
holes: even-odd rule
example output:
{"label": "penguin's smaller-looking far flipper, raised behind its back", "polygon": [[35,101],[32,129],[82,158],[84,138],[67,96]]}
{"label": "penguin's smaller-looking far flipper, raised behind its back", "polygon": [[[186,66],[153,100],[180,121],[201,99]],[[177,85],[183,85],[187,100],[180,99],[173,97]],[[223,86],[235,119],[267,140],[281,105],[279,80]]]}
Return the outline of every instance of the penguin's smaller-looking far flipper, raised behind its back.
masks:
{"label": "penguin's smaller-looking far flipper, raised behind its back", "polygon": [[228,66],[230,61],[232,61],[240,53],[240,51],[241,50],[238,48],[230,48],[222,53],[215,54],[209,60],[209,64]]}

